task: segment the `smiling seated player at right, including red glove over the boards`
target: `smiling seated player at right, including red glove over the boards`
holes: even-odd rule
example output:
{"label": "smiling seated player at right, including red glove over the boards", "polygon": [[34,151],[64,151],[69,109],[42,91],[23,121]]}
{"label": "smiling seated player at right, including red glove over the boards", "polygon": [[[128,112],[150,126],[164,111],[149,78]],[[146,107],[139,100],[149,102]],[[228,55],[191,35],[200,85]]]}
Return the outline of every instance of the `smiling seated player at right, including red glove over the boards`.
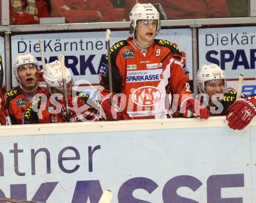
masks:
{"label": "smiling seated player at right, including red glove over the boards", "polygon": [[226,91],[225,73],[216,64],[203,65],[197,71],[197,85],[211,115],[227,115],[232,129],[243,129],[256,114],[256,97],[236,100],[237,92]]}

